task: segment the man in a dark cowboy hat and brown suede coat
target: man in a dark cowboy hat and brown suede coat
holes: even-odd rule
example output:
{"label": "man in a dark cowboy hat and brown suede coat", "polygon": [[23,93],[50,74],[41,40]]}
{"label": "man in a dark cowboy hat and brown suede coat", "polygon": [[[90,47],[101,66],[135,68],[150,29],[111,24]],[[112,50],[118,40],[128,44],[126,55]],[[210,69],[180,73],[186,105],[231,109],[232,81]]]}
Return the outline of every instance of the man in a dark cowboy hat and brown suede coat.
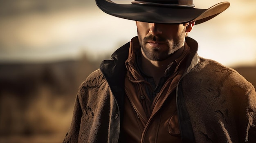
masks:
{"label": "man in a dark cowboy hat and brown suede coat", "polygon": [[135,0],[98,7],[135,20],[138,36],[81,84],[66,143],[254,143],[255,89],[235,70],[197,55],[186,37],[229,2]]}

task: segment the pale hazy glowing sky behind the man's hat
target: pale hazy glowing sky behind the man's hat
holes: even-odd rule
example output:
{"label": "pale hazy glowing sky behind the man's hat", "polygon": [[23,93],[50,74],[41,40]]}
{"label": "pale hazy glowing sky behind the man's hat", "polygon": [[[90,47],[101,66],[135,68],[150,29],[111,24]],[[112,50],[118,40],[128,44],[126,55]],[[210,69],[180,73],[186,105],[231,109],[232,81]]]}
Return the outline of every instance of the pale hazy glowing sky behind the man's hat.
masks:
{"label": "pale hazy glowing sky behind the man's hat", "polygon": [[[196,8],[203,9],[218,2],[222,1],[193,1]],[[189,37],[198,41],[198,54],[202,57],[226,66],[256,66],[256,1],[229,2],[229,9],[195,25]],[[134,21],[103,13],[93,0],[43,12],[29,4],[27,0],[27,5],[21,4],[22,9],[12,15],[0,11],[1,63],[52,62],[83,55],[94,60],[110,56],[137,35]],[[51,5],[47,4],[46,7]]]}

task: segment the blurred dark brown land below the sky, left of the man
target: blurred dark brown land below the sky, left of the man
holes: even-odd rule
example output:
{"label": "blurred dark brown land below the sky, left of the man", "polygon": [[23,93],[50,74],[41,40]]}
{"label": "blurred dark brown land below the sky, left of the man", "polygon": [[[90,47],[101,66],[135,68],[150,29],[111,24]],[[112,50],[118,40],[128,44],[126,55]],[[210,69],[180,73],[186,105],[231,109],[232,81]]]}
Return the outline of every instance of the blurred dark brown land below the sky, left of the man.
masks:
{"label": "blurred dark brown land below the sky, left of the man", "polygon": [[0,64],[0,139],[60,132],[63,138],[77,89],[100,61]]}

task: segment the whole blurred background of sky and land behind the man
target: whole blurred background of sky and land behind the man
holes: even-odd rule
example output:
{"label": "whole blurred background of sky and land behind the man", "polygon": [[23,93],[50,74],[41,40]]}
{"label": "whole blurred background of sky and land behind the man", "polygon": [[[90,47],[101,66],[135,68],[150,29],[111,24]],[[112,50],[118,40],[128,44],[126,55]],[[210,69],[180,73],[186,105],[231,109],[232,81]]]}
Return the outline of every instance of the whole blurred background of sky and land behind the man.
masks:
{"label": "whole blurred background of sky and land behind the man", "polygon": [[[218,2],[194,0],[198,8]],[[255,86],[256,1],[229,2],[189,36],[200,56]],[[78,86],[136,35],[135,22],[103,13],[94,0],[0,0],[0,143],[61,142]]]}

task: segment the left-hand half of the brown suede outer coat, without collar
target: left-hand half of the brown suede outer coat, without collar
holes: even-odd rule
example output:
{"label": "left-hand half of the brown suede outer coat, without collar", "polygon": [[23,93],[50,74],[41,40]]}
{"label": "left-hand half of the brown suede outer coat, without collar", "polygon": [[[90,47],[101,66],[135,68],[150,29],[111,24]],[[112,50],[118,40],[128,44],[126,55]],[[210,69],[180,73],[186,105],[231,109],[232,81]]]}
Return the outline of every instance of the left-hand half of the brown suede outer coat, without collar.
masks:
{"label": "left-hand half of the brown suede outer coat, without collar", "polygon": [[117,142],[119,128],[114,96],[100,70],[96,70],[79,87],[70,130],[63,142]]}

